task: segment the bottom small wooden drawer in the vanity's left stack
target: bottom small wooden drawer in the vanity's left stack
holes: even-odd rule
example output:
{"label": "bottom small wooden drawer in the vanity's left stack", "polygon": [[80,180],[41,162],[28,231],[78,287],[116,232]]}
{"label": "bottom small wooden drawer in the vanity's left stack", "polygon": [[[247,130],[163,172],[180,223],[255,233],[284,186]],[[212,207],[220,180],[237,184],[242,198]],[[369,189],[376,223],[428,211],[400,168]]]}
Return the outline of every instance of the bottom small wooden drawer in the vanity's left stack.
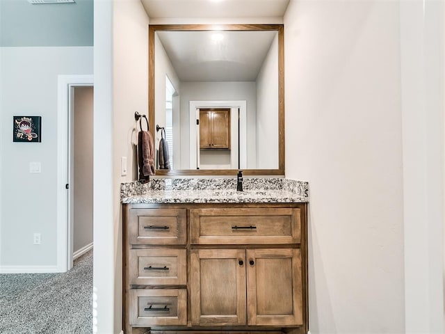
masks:
{"label": "bottom small wooden drawer in the vanity's left stack", "polygon": [[129,322],[133,326],[186,325],[186,289],[132,289]]}

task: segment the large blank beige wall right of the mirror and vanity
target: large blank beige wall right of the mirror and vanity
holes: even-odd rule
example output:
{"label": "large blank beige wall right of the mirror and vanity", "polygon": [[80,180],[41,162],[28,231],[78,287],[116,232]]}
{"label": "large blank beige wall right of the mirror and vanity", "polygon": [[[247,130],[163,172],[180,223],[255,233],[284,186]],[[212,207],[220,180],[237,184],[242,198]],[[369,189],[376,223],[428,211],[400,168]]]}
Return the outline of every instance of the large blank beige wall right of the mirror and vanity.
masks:
{"label": "large blank beige wall right of the mirror and vanity", "polygon": [[404,333],[397,1],[291,1],[286,177],[307,180],[312,333]]}

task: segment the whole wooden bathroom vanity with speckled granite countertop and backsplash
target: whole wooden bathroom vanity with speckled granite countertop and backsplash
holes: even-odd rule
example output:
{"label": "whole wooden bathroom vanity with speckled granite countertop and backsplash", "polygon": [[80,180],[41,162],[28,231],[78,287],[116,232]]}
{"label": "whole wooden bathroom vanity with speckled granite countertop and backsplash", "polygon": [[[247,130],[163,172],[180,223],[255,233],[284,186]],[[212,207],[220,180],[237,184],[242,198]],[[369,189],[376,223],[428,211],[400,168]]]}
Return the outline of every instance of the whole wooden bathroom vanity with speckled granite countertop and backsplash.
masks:
{"label": "whole wooden bathroom vanity with speckled granite countertop and backsplash", "polygon": [[307,182],[122,184],[124,333],[307,333]]}

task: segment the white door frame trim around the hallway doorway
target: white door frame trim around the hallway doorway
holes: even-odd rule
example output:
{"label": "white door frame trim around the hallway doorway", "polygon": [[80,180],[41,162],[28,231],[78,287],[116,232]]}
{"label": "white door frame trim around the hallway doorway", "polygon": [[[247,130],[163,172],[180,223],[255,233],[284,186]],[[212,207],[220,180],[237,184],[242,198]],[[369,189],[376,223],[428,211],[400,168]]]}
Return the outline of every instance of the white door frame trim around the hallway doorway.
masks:
{"label": "white door frame trim around the hallway doorway", "polygon": [[72,90],[94,86],[92,75],[59,75],[57,108],[57,271],[65,272],[73,263],[72,222]]}

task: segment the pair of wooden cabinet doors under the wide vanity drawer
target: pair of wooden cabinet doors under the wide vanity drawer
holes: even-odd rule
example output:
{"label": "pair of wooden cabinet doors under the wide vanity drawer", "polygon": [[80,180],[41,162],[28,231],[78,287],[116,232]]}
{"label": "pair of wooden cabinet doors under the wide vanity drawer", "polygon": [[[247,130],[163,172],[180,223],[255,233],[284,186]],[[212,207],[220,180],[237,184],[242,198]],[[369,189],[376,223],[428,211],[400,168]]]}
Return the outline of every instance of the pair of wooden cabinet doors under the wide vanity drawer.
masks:
{"label": "pair of wooden cabinet doors under the wide vanity drawer", "polygon": [[299,249],[192,250],[192,324],[300,326],[301,283]]}

